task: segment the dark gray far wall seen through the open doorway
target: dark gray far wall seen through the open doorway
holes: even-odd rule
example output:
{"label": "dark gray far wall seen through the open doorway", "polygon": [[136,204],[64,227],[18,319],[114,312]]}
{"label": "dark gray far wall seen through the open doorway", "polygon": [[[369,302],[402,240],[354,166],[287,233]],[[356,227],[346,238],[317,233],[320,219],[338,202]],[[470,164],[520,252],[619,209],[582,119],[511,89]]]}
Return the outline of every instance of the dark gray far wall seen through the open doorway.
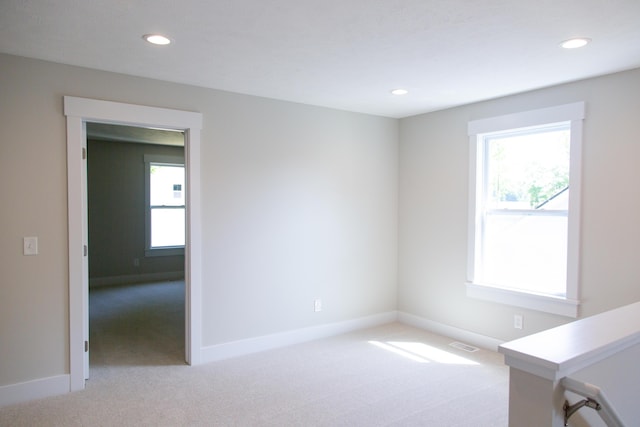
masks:
{"label": "dark gray far wall seen through the open doorway", "polygon": [[184,158],[184,148],[89,140],[87,150],[89,286],[184,275],[184,255],[145,257],[144,252],[144,156]]}

